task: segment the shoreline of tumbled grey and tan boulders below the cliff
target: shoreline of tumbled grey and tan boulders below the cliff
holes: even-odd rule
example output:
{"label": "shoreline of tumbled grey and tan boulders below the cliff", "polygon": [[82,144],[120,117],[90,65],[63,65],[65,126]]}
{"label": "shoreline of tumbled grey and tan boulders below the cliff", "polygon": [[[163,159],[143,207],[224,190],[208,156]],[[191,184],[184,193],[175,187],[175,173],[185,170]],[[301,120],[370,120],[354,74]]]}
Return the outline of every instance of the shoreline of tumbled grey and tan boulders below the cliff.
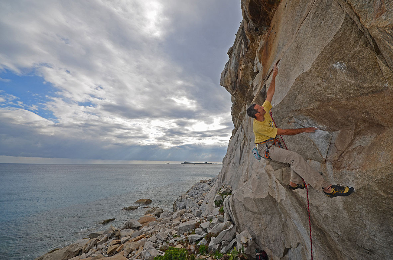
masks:
{"label": "shoreline of tumbled grey and tan boulders below the cliff", "polygon": [[223,205],[231,194],[230,186],[223,185],[217,192],[214,207],[201,207],[208,204],[206,195],[216,179],[195,183],[176,199],[173,212],[153,207],[138,220],[96,231],[88,239],[54,249],[35,260],[153,260],[163,256],[169,247],[185,248],[193,259],[228,259],[224,254],[242,246],[245,254],[251,255],[255,247],[250,234],[237,232]]}

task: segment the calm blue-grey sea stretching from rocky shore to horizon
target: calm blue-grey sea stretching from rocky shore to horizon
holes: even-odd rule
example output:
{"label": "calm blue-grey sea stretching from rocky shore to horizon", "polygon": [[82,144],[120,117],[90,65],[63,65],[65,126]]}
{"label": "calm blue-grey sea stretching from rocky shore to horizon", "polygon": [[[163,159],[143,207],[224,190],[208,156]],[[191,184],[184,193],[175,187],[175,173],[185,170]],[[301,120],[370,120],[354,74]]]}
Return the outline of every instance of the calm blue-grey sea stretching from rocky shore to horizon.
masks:
{"label": "calm blue-grey sea stretching from rocky shore to horizon", "polygon": [[[173,202],[222,165],[0,164],[0,259],[33,260],[95,230],[138,219],[148,207],[173,211]],[[116,220],[102,225],[103,220]]]}

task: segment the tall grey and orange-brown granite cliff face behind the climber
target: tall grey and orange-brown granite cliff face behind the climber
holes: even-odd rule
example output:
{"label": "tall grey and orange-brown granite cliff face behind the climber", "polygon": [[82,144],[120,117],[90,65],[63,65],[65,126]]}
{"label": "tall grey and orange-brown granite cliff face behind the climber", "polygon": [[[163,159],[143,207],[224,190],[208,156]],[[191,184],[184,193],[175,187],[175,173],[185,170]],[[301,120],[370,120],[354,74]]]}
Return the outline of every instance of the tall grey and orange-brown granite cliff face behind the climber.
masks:
{"label": "tall grey and orange-brown granite cliff face behind the climber", "polygon": [[242,0],[243,20],[221,85],[232,96],[234,130],[202,216],[223,183],[224,209],[269,259],[309,259],[305,190],[289,190],[290,168],[257,161],[246,108],[262,104],[279,62],[273,116],[284,136],[346,198],[309,188],[316,259],[392,259],[393,4],[387,0]]}

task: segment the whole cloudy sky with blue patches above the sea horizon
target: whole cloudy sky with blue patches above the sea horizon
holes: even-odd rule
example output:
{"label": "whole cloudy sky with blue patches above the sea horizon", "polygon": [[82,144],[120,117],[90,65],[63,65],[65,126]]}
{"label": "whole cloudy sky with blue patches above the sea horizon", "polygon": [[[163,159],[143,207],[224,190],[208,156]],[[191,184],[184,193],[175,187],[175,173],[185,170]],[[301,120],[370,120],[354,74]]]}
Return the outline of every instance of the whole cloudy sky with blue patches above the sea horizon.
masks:
{"label": "whole cloudy sky with blue patches above the sea horizon", "polygon": [[2,0],[0,163],[222,161],[241,19],[239,0]]}

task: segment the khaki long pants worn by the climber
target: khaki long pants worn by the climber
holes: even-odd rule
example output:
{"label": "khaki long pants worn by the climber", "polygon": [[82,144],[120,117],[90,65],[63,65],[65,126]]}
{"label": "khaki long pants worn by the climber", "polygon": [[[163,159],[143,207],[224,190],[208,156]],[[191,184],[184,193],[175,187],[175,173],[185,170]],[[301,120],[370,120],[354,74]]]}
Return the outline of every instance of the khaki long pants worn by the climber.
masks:
{"label": "khaki long pants worn by the climber", "polygon": [[[266,146],[258,146],[259,154],[265,154]],[[298,153],[290,150],[279,148],[278,146],[272,145],[269,148],[269,156],[274,161],[281,163],[288,163],[291,166],[291,179],[293,183],[303,184],[302,179],[306,183],[309,183],[315,190],[321,192],[323,188],[330,186],[328,181],[325,181],[321,174],[314,170],[309,163]]]}

